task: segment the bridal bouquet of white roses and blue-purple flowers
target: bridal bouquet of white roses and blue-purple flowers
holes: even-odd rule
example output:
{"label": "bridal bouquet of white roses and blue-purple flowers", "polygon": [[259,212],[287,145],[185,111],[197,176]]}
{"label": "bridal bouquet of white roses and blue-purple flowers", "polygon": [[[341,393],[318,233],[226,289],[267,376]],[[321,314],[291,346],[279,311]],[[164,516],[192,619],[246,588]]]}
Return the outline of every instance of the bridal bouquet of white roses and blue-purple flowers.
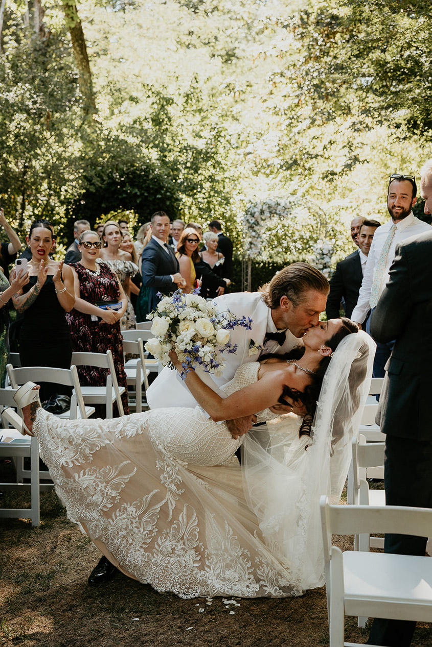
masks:
{"label": "bridal bouquet of white roses and blue-purple flowers", "polygon": [[198,291],[183,294],[177,290],[172,296],[165,296],[155,311],[147,315],[153,320],[154,338],[146,342],[146,351],[163,366],[172,365],[168,353],[176,351],[183,366],[182,378],[196,366],[202,366],[206,373],[222,375],[222,353],[237,350],[237,345],[229,341],[229,331],[236,325],[251,329],[250,318],[238,319],[229,310],[218,313],[215,305],[199,296]]}

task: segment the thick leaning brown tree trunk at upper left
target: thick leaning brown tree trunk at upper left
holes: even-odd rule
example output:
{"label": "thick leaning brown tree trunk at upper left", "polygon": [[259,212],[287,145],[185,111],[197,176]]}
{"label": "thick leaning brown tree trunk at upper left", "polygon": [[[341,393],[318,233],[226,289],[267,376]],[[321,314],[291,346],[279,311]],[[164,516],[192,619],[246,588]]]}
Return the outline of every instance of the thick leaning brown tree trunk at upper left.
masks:
{"label": "thick leaning brown tree trunk at upper left", "polygon": [[62,0],[62,5],[66,16],[66,25],[69,30],[69,34],[71,34],[76,67],[78,68],[78,74],[80,75],[79,83],[81,93],[84,96],[85,113],[93,114],[97,110],[82,23],[78,16],[78,11],[76,10],[75,0]]}

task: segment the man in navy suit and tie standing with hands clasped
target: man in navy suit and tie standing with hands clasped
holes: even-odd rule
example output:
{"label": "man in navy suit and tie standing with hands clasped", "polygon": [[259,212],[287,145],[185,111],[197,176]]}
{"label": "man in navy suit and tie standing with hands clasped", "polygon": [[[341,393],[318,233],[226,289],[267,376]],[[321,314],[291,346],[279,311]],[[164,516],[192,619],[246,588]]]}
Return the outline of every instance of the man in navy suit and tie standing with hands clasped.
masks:
{"label": "man in navy suit and tie standing with hands clasped", "polygon": [[179,273],[179,261],[174,250],[167,244],[170,219],[163,211],[152,215],[152,238],[142,250],[142,285],[150,286],[148,307],[155,309],[161,298],[157,292],[172,294],[186,281]]}

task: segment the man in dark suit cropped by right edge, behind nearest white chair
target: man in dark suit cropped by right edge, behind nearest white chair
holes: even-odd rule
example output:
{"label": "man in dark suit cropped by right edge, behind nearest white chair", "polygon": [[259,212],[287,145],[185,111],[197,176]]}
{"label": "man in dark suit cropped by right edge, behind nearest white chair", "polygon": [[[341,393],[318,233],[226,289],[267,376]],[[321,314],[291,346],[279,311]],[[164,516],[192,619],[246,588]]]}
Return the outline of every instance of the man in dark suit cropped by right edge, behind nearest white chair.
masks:
{"label": "man in dark suit cropped by right edge, behind nearest white chair", "polygon": [[[432,210],[432,160],[422,168],[424,211]],[[387,505],[432,507],[432,232],[396,248],[389,282],[370,317],[370,332],[385,344],[395,339],[385,365],[377,422],[386,434]],[[385,552],[424,555],[426,537],[385,536]],[[369,644],[408,647],[415,622],[376,619]]]}

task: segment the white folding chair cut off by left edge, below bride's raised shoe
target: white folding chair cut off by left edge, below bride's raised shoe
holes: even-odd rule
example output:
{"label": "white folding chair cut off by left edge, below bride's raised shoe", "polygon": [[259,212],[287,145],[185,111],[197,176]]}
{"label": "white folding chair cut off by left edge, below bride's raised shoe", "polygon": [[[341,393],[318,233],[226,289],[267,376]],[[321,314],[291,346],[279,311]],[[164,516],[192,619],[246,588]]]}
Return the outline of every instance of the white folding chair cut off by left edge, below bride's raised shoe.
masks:
{"label": "white folding chair cut off by left edge, below bride's raised shoe", "polygon": [[[15,392],[15,389],[10,391],[12,395]],[[13,409],[4,409],[2,418],[5,424],[11,424],[12,427],[5,426],[5,428],[0,429],[2,437],[0,456],[17,459],[21,463],[26,457],[30,458],[30,470],[25,470],[25,476],[30,479],[30,483],[22,483],[17,474],[16,482],[0,483],[0,490],[3,492],[9,492],[10,490],[28,492],[30,490],[31,503],[30,508],[0,508],[0,517],[30,519],[32,525],[40,525],[40,491],[52,490],[54,484],[40,483],[39,443],[36,436],[21,435],[20,430],[23,421]]]}

